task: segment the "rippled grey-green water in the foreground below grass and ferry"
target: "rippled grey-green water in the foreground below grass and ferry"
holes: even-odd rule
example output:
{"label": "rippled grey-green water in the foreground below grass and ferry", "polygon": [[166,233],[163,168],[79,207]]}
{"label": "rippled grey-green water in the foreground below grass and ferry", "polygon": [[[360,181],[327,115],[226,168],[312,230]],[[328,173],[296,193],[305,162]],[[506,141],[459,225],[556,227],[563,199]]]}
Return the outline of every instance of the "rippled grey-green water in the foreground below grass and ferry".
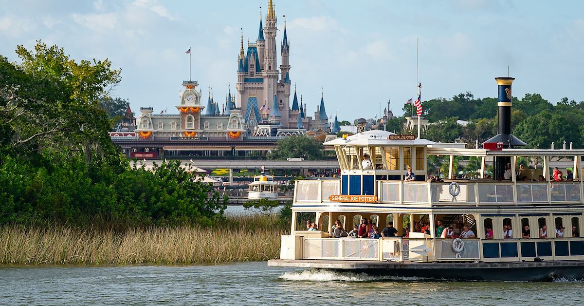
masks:
{"label": "rippled grey-green water in the foreground below grass and ferry", "polygon": [[267,267],[0,267],[0,305],[582,305],[584,283],[392,279]]}

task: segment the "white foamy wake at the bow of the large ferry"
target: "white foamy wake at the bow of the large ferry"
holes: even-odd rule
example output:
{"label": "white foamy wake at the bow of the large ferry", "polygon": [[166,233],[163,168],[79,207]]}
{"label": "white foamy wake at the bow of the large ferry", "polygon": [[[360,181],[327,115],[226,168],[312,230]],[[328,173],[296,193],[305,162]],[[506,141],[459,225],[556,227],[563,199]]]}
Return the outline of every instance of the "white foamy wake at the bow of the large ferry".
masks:
{"label": "white foamy wake at the bow of the large ferry", "polygon": [[284,273],[280,276],[283,280],[310,280],[310,281],[376,281],[376,280],[423,280],[422,277],[395,277],[373,276],[366,273],[335,272],[328,269],[310,269],[298,272]]}

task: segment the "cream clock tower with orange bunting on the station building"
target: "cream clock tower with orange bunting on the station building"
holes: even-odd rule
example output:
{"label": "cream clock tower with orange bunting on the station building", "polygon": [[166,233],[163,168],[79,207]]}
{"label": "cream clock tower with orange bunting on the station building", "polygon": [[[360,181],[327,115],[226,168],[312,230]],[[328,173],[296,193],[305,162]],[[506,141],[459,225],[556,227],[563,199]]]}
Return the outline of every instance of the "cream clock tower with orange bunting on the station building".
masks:
{"label": "cream clock tower with orange bunting on the station building", "polygon": [[179,129],[200,129],[200,114],[205,106],[201,105],[201,91],[196,90],[197,85],[197,81],[183,81],[186,89],[179,92],[180,105],[176,106],[180,114]]}

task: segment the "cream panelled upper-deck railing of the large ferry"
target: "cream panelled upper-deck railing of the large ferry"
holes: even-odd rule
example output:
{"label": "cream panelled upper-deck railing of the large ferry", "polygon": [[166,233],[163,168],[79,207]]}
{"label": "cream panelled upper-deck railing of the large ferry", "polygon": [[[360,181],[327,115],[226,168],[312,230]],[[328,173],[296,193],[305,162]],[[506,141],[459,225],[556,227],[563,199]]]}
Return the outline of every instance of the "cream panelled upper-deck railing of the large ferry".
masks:
{"label": "cream panelled upper-deck railing of the large ferry", "polygon": [[[340,180],[298,180],[294,202],[331,202],[330,195],[340,194]],[[458,192],[450,192],[450,183],[379,180],[377,202],[416,205],[517,205],[523,203],[555,204],[582,202],[582,182],[493,182],[457,181]]]}

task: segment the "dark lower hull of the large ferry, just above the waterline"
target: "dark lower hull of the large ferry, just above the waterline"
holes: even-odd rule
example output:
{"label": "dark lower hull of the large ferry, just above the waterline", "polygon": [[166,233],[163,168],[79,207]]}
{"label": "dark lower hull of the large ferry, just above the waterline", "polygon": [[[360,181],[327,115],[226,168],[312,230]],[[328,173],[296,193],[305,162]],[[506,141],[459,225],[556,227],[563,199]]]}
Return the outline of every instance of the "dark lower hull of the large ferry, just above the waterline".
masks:
{"label": "dark lower hull of the large ferry, just above the waterline", "polygon": [[584,279],[584,261],[543,262],[375,262],[363,260],[268,260],[270,267],[306,267],[371,275],[448,280],[553,281]]}

